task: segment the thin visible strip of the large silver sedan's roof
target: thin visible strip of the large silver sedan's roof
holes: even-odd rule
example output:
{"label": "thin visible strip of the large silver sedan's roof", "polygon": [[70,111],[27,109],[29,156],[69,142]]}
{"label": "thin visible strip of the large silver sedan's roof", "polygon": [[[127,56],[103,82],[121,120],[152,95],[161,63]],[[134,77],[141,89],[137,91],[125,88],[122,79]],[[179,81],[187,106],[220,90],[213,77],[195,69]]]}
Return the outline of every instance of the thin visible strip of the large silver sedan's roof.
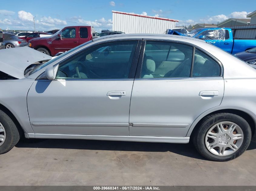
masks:
{"label": "thin visible strip of the large silver sedan's roof", "polygon": [[121,33],[121,34],[113,34],[113,35],[108,35],[108,36],[103,36],[103,37],[98,37],[93,39],[92,41],[96,41],[96,40],[101,40],[101,39],[107,39],[107,38],[112,38],[112,37],[120,37],[120,39],[125,39],[127,37],[130,38],[158,38],[158,39],[166,39],[166,37],[175,37],[177,39],[191,39],[191,40],[196,40],[196,41],[201,41],[204,42],[204,40],[200,40],[200,39],[196,39],[196,38],[192,38],[192,37],[185,37],[185,36],[179,36],[179,35],[171,35],[171,34],[127,34],[127,33]]}

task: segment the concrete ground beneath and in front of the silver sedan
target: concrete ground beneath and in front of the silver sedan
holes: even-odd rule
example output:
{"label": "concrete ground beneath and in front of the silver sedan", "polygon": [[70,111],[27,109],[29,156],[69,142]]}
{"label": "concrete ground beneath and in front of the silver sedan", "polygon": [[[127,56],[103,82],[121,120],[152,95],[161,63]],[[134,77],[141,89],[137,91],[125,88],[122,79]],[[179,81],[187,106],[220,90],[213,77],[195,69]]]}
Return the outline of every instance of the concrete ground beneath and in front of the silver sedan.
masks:
{"label": "concrete ground beneath and in front of the silver sedan", "polygon": [[212,162],[191,144],[47,139],[0,155],[0,185],[256,185],[256,143]]}

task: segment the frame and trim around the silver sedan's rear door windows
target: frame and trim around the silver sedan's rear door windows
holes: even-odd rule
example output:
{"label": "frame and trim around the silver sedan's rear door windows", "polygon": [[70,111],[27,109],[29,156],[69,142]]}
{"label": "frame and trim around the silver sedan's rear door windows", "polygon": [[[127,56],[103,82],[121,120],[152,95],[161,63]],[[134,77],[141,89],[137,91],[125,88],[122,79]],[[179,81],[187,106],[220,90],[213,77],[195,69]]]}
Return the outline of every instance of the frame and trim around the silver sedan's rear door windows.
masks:
{"label": "frame and trim around the silver sedan's rear door windows", "polygon": [[[169,42],[169,43],[179,43],[179,44],[185,44],[185,45],[189,45],[189,46],[192,46],[193,47],[193,57],[192,57],[192,63],[191,63],[191,71],[190,71],[190,77],[181,77],[181,78],[140,78],[141,76],[141,68],[142,68],[142,62],[143,62],[143,58],[144,58],[144,53],[145,53],[145,46],[146,46],[146,41],[158,41],[158,42]],[[218,77],[193,77],[193,66],[194,66],[194,53],[195,53],[195,49],[198,49],[200,51],[202,51],[203,53],[205,53],[207,56],[211,57],[214,61],[216,61],[220,68],[221,68],[221,73],[220,73],[220,76]],[[139,56],[139,62],[138,62],[138,65],[137,65],[137,70],[136,70],[136,75],[135,75],[135,79],[136,80],[175,80],[175,79],[201,79],[201,78],[223,78],[223,65],[222,63],[216,59],[213,55],[211,55],[210,53],[206,52],[204,49],[201,49],[200,47],[198,46],[195,46],[194,44],[190,44],[190,43],[186,43],[186,42],[179,42],[179,41],[176,41],[176,40],[162,40],[162,39],[143,39],[143,42],[142,42],[142,45],[141,45],[141,53],[140,53],[140,56]]]}

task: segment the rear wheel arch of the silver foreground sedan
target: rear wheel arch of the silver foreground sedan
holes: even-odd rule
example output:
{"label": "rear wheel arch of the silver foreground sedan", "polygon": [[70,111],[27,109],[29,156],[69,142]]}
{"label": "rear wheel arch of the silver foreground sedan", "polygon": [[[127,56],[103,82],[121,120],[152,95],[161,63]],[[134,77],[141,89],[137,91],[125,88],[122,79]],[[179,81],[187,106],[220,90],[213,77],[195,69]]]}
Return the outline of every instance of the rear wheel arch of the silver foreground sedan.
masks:
{"label": "rear wheel arch of the silver foreground sedan", "polygon": [[242,118],[244,118],[249,123],[249,125],[251,127],[252,136],[254,135],[255,130],[256,130],[256,123],[255,123],[254,118],[248,112],[245,112],[245,111],[239,110],[239,109],[220,109],[220,110],[212,111],[211,113],[201,114],[192,123],[190,129],[188,130],[187,137],[192,137],[193,136],[193,133],[198,128],[198,124],[204,119],[204,117],[206,117],[208,115],[215,114],[215,113],[233,113],[233,114],[236,114],[238,116],[241,116]]}

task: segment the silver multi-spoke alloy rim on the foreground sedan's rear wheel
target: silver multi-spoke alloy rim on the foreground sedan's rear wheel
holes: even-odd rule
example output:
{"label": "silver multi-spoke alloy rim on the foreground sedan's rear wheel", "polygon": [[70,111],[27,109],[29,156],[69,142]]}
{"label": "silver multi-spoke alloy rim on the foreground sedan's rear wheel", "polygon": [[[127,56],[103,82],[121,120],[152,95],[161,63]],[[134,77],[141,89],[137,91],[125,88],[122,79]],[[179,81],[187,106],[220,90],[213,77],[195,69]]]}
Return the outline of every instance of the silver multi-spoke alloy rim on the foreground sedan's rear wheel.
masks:
{"label": "silver multi-spoke alloy rim on the foreground sedan's rear wheel", "polygon": [[241,147],[243,140],[242,129],[229,121],[215,124],[205,135],[206,148],[218,156],[233,154]]}

